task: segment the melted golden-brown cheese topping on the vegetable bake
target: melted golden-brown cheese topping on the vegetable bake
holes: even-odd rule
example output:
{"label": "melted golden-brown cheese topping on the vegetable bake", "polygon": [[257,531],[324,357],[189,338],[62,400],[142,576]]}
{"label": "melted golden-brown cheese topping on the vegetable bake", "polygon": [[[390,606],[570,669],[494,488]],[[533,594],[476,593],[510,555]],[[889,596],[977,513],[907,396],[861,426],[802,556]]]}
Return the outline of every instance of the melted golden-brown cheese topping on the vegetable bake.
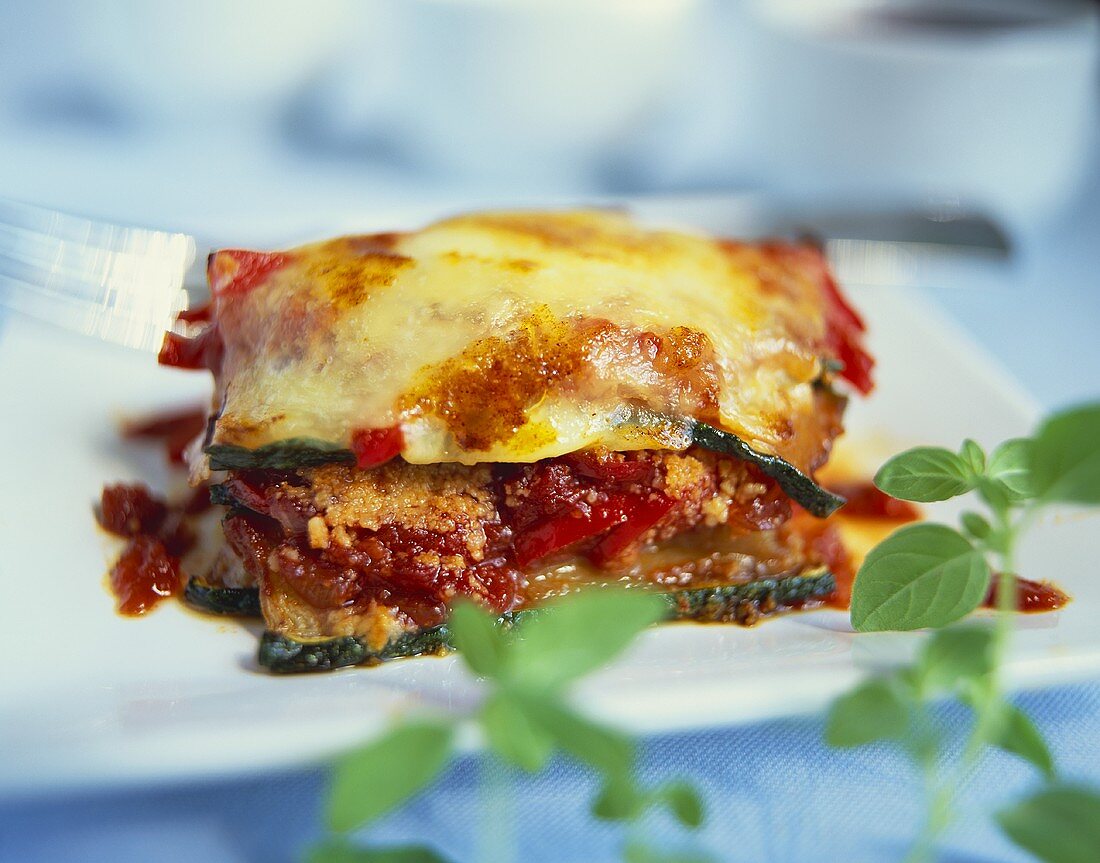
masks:
{"label": "melted golden-brown cheese topping on the vegetable bake", "polygon": [[802,246],[644,230],[601,211],[460,217],[286,253],[220,252],[210,443],[348,445],[399,425],[413,463],[682,449],[624,406],[721,425],[807,468],[826,354]]}

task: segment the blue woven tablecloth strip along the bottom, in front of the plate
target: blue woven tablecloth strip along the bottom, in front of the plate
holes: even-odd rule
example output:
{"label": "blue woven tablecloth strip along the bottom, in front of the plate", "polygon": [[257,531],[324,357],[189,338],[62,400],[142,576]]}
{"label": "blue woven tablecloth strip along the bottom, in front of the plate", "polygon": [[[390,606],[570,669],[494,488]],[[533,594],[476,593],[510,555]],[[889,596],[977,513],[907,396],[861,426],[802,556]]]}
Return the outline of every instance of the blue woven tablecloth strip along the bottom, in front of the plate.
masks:
{"label": "blue woven tablecloth strip along the bottom, in front of the plate", "polygon": [[[1025,695],[1071,777],[1100,782],[1100,685]],[[963,728],[961,708],[943,712]],[[640,826],[654,844],[695,845],[721,861],[822,863],[890,861],[904,855],[922,812],[920,779],[884,746],[837,753],[822,744],[818,720],[767,722],[645,742],[647,779],[684,775],[707,800],[695,836],[664,816]],[[240,782],[55,798],[0,809],[0,860],[12,863],[230,863],[297,860],[319,836],[318,770]],[[617,860],[624,833],[591,820],[591,777],[569,762],[536,778],[507,777],[510,828],[524,863]],[[944,861],[1026,860],[989,814],[1035,782],[1003,754],[988,757],[961,788]],[[480,790],[475,757],[459,761],[430,792],[370,831],[376,842],[430,842],[458,861],[477,860],[487,829],[499,829]]]}

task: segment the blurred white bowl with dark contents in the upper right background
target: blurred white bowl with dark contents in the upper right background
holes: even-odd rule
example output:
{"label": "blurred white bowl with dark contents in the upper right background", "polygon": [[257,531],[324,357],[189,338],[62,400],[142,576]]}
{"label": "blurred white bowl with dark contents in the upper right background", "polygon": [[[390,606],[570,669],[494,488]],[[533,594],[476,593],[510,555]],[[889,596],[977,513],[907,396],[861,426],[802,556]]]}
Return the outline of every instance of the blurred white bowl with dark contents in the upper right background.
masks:
{"label": "blurred white bowl with dark contents in the upper right background", "polygon": [[761,182],[963,198],[1034,223],[1093,152],[1087,0],[754,0]]}

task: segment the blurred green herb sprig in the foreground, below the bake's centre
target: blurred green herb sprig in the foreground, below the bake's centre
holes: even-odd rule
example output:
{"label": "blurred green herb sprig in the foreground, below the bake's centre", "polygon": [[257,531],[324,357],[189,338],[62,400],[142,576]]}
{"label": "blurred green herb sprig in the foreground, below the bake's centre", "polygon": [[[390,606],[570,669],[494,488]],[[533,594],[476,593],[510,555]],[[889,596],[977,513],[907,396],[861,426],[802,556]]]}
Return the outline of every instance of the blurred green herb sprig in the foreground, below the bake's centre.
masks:
{"label": "blurred green herb sprig in the foreground, below the bake's centre", "polygon": [[[572,704],[571,686],[617,659],[637,635],[668,615],[660,596],[624,589],[581,593],[542,607],[513,628],[470,604],[455,605],[450,630],[458,656],[485,682],[486,694],[470,716],[419,719],[398,724],[381,739],[342,756],[326,799],[328,826],[337,836],[311,852],[310,863],[439,863],[420,847],[369,848],[346,834],[430,785],[457,754],[460,732],[473,726],[487,756],[528,773],[556,753],[600,777],[592,811],[598,818],[635,821],[661,807],[688,828],[698,827],[704,807],[686,782],[648,788],[635,776],[636,748],[623,732],[595,722]],[[507,792],[503,795],[507,797]],[[498,818],[491,826],[499,828]],[[636,839],[626,859],[686,861]]]}

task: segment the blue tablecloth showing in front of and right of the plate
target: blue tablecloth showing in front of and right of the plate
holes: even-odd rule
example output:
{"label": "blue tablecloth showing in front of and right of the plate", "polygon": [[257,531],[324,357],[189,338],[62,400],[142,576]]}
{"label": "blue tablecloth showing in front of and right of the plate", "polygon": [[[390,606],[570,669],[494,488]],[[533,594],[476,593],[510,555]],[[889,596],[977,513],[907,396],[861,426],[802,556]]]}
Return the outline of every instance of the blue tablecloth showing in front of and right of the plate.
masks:
{"label": "blue tablecloth showing in front of and right of the plate", "polygon": [[[35,196],[20,186],[23,169],[16,167],[9,161],[0,172],[8,175],[8,186],[22,189],[22,197],[48,200],[48,195]],[[393,199],[392,178],[386,184]],[[70,206],[95,209],[89,204],[98,193],[95,184],[84,191],[87,200]],[[1003,290],[933,292],[1046,407],[1096,397],[1100,173],[1076,207],[1030,237],[1024,252],[1018,277]],[[1100,684],[1031,693],[1020,701],[1035,716],[1063,768],[1100,784]],[[960,708],[946,709],[944,717],[956,732],[965,728]],[[658,737],[645,741],[644,762],[649,778],[692,777],[705,792],[708,818],[694,837],[663,816],[642,825],[642,834],[653,844],[697,843],[724,861],[897,860],[922,811],[921,785],[901,756],[883,748],[829,751],[822,744],[820,720]],[[429,842],[457,860],[476,859],[486,825],[502,820],[486,811],[477,775],[475,760],[460,761],[429,793],[372,830],[371,839]],[[1000,838],[989,812],[1033,778],[1025,765],[1007,755],[983,762],[961,789],[944,859],[1023,859]],[[535,778],[510,776],[508,782],[517,816],[512,828],[517,860],[615,859],[623,833],[587,817],[592,785],[584,771],[563,762]],[[302,770],[9,801],[0,804],[0,860],[290,861],[319,837],[322,784],[319,770]]]}

